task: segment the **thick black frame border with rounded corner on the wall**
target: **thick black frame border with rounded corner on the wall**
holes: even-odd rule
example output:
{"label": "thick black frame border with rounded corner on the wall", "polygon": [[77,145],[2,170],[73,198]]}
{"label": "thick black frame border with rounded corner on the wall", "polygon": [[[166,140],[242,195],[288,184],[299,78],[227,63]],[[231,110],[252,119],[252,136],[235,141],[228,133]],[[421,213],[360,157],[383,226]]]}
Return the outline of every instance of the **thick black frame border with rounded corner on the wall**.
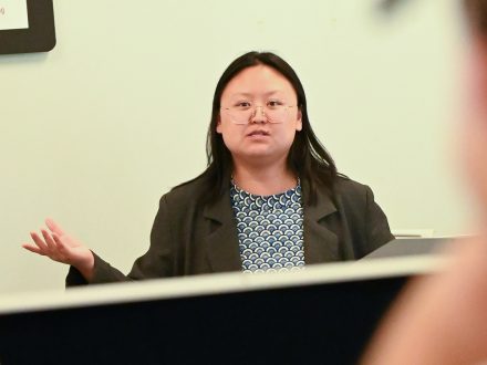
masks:
{"label": "thick black frame border with rounded corner on the wall", "polygon": [[52,0],[27,0],[29,28],[0,30],[0,54],[49,52],[55,46]]}

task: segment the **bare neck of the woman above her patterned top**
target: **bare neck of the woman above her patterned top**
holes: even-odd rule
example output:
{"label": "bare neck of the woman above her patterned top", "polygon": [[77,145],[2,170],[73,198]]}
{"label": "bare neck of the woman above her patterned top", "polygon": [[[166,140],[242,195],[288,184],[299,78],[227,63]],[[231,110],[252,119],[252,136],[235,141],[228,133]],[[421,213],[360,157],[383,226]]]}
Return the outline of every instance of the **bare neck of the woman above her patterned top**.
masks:
{"label": "bare neck of the woman above her patterned top", "polygon": [[286,164],[266,168],[236,164],[234,181],[250,194],[268,196],[292,189],[298,184],[298,178]]}

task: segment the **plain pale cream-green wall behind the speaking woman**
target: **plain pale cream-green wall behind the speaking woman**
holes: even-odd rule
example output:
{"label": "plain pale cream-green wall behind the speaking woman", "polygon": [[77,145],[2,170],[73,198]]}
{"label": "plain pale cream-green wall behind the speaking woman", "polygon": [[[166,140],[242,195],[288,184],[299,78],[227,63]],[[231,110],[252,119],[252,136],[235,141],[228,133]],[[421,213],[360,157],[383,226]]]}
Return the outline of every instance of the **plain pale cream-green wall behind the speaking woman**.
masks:
{"label": "plain pale cream-green wall behind the speaking woman", "polygon": [[62,288],[64,265],[20,248],[44,217],[127,271],[159,196],[204,169],[216,82],[249,50],[293,65],[318,136],[393,229],[465,233],[456,7],[376,3],[54,0],[54,50],[0,56],[0,292]]}

